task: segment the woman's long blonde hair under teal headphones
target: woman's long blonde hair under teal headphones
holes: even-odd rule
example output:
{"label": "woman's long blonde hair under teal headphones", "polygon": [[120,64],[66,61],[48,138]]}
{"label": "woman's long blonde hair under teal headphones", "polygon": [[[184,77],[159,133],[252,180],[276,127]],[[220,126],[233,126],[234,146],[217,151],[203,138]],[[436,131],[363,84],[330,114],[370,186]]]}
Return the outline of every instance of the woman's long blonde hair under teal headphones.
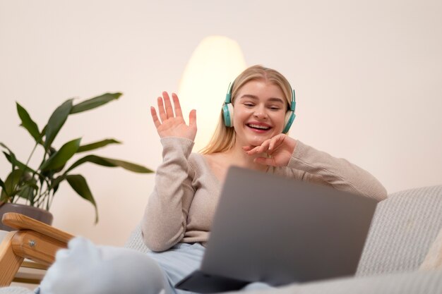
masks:
{"label": "woman's long blonde hair under teal headphones", "polygon": [[[230,101],[232,105],[241,87],[251,80],[264,80],[265,82],[270,82],[273,85],[280,87],[285,99],[287,100],[287,111],[290,109],[290,103],[292,102],[292,87],[287,79],[279,72],[260,65],[246,68],[234,80],[232,85],[232,100]],[[234,128],[229,128],[225,125],[221,110],[215,133],[213,133],[208,145],[201,149],[200,152],[202,154],[212,154],[217,152],[225,152],[232,149],[235,143],[235,134]]]}

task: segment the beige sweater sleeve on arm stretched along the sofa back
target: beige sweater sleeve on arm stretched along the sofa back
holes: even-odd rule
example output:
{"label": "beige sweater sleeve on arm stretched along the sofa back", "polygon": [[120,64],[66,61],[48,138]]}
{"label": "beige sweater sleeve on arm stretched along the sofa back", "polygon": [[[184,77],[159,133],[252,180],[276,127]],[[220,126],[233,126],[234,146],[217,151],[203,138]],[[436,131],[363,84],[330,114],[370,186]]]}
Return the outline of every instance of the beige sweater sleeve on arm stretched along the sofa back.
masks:
{"label": "beige sweater sleeve on arm stretched along the sofa back", "polygon": [[289,168],[304,171],[304,179],[316,183],[325,183],[333,188],[359,195],[383,200],[387,191],[383,185],[369,173],[346,159],[332,157],[313,147],[297,141]]}

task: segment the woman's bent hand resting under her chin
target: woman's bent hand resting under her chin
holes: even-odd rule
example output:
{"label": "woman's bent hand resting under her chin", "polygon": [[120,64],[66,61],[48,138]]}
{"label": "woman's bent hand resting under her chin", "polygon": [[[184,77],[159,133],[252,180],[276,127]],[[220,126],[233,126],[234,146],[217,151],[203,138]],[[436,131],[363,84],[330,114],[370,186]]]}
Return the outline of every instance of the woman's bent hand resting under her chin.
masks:
{"label": "woman's bent hand resting under her chin", "polygon": [[291,137],[285,134],[280,134],[265,140],[259,146],[244,146],[242,149],[251,156],[261,153],[267,153],[270,155],[270,158],[256,157],[254,161],[258,164],[267,166],[287,166],[290,157],[292,157],[294,147],[296,147],[296,143],[296,140]]}

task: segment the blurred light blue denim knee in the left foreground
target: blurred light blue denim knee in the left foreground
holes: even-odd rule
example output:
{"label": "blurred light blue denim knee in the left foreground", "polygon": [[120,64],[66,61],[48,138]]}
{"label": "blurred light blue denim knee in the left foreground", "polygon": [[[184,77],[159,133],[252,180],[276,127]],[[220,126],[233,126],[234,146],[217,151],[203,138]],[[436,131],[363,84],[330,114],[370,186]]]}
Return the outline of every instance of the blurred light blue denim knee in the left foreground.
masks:
{"label": "blurred light blue denim knee in the left foreground", "polygon": [[160,294],[167,288],[163,281],[162,269],[148,255],[76,237],[56,252],[40,294]]}

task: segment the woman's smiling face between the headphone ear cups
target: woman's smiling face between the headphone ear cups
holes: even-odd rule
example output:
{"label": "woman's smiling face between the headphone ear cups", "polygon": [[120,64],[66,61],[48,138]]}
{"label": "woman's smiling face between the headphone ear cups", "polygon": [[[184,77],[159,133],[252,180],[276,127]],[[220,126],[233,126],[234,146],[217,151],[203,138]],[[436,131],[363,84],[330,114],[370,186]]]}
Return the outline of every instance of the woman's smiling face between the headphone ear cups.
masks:
{"label": "woman's smiling face between the headphone ear cups", "polygon": [[280,87],[251,80],[234,99],[233,125],[240,146],[258,146],[282,133],[287,100]]}

